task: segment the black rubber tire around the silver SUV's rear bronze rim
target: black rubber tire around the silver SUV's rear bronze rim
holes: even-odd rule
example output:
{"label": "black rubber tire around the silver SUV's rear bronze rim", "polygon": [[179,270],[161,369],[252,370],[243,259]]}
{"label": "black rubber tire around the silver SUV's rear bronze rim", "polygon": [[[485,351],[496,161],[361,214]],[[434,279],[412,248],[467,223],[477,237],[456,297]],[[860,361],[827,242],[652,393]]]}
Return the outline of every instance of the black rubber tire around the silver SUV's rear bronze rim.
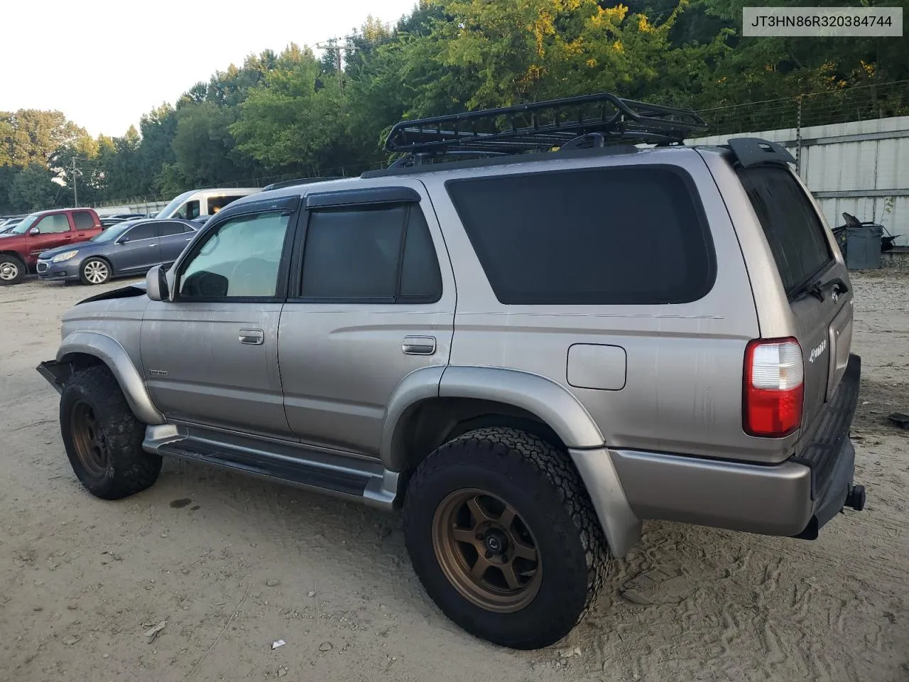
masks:
{"label": "black rubber tire around the silver SUV's rear bronze rim", "polygon": [[[532,532],[542,581],[534,600],[497,613],[464,598],[436,558],[436,508],[454,491],[480,488],[513,506]],[[513,428],[481,428],[440,446],[417,467],[405,496],[405,541],[417,577],[445,616],[476,637],[519,649],[547,647],[586,615],[612,559],[567,453]]]}

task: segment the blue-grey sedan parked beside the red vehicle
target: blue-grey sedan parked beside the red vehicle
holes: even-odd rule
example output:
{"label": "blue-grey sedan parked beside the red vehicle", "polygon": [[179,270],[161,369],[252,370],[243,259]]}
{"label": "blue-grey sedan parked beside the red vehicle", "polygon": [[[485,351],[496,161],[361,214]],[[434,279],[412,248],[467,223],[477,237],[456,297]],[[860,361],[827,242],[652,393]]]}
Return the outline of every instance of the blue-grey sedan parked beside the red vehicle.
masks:
{"label": "blue-grey sedan parked beside the red vehicle", "polygon": [[195,236],[191,220],[127,220],[76,246],[62,246],[38,256],[38,277],[86,285],[112,277],[144,275],[157,265],[170,266]]}

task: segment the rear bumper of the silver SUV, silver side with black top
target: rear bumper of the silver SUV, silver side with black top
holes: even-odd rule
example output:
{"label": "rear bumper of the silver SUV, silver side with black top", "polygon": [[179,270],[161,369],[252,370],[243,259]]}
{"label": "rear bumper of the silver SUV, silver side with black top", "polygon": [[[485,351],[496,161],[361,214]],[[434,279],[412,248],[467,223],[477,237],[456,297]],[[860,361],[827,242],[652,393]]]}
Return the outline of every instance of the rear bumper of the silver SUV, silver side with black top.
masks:
{"label": "rear bumper of the silver SUV, silver side with black top", "polygon": [[811,443],[780,465],[611,451],[634,513],[641,518],[814,539],[847,502],[860,507],[851,497],[855,450],[849,440],[860,376],[861,360],[850,356]]}

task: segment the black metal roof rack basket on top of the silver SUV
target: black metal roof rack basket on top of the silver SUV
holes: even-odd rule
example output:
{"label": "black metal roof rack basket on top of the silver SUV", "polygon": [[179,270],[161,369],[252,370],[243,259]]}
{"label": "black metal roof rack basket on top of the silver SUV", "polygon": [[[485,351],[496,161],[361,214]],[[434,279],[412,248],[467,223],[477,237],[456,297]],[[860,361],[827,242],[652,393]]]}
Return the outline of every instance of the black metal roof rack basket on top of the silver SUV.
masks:
{"label": "black metal roof rack basket on top of the silver SUV", "polygon": [[[691,109],[653,105],[610,93],[401,121],[385,139],[395,164],[437,155],[512,155],[614,143],[680,144],[706,122]],[[406,160],[405,160],[406,159]]]}

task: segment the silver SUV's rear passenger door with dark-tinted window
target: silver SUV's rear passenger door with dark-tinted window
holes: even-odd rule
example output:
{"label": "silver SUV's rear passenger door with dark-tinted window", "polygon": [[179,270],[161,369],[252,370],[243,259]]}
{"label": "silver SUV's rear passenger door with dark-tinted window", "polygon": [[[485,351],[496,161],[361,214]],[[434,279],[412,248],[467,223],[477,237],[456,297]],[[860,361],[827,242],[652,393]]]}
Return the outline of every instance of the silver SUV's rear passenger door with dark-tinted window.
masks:
{"label": "silver SUV's rear passenger door with dark-tinted window", "polygon": [[305,443],[378,456],[395,387],[448,363],[445,243],[416,181],[312,193],[306,206],[278,334],[287,422]]}

